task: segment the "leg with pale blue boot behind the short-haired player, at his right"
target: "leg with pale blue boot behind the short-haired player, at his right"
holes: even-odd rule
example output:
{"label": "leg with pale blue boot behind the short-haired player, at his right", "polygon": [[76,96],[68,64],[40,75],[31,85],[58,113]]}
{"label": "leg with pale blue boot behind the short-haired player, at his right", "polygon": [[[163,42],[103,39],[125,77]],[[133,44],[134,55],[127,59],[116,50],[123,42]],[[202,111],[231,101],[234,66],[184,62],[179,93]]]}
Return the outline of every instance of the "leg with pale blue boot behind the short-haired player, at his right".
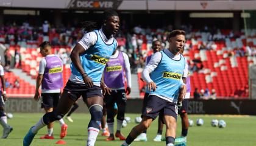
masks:
{"label": "leg with pale blue boot behind the short-haired player, at his right", "polygon": [[188,99],[183,99],[182,107],[179,108],[180,118],[182,120],[182,133],[180,137],[175,139],[176,143],[187,142],[188,127]]}

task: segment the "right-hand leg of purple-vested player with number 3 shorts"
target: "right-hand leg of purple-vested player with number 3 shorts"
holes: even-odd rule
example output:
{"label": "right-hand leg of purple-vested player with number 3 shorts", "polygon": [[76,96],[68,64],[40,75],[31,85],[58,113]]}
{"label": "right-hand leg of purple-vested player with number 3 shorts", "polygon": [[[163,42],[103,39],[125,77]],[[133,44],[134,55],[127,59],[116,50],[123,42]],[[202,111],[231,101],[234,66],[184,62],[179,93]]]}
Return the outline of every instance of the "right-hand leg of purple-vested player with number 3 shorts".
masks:
{"label": "right-hand leg of purple-vested player with number 3 shorts", "polygon": [[121,133],[121,128],[124,121],[124,113],[126,112],[126,91],[124,89],[120,89],[117,91],[116,96],[114,97],[115,102],[118,106],[118,114],[116,116],[116,134],[120,140],[126,140],[126,137]]}

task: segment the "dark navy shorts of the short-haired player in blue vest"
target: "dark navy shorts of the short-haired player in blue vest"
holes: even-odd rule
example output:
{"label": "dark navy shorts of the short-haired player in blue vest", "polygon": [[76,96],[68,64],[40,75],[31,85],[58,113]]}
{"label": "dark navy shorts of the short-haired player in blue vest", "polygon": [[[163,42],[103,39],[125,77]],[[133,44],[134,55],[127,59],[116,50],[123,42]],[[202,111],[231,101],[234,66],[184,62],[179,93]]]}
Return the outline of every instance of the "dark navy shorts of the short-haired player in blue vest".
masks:
{"label": "dark navy shorts of the short-haired player in blue vest", "polygon": [[161,116],[172,116],[177,120],[177,104],[168,102],[157,96],[148,96],[143,105],[142,116],[151,117],[153,120],[161,113]]}

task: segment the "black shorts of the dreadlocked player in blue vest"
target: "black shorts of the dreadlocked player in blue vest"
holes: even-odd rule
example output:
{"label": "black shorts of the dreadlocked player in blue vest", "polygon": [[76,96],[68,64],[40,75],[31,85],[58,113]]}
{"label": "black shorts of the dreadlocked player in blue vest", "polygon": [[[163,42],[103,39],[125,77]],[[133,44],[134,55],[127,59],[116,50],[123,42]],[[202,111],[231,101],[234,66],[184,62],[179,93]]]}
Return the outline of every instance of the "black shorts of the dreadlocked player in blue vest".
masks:
{"label": "black shorts of the dreadlocked player in blue vest", "polygon": [[81,96],[83,97],[84,102],[86,101],[85,99],[89,97],[102,97],[102,89],[99,86],[93,86],[91,88],[88,88],[87,86],[85,86],[85,84],[74,83],[70,80],[68,80],[68,82],[66,83],[63,91],[68,92],[69,98],[74,101],[79,99]]}

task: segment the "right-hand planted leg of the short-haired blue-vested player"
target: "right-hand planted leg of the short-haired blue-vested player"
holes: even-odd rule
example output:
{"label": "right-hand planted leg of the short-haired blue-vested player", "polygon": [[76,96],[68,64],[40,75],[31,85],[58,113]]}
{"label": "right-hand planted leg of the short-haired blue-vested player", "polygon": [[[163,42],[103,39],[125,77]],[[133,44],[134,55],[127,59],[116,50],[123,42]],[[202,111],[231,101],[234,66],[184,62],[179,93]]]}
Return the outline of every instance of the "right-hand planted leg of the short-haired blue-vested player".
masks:
{"label": "right-hand planted leg of the short-haired blue-vested player", "polygon": [[177,113],[177,105],[175,103],[166,102],[165,108],[163,109],[163,120],[166,126],[166,146],[174,145],[177,127]]}

